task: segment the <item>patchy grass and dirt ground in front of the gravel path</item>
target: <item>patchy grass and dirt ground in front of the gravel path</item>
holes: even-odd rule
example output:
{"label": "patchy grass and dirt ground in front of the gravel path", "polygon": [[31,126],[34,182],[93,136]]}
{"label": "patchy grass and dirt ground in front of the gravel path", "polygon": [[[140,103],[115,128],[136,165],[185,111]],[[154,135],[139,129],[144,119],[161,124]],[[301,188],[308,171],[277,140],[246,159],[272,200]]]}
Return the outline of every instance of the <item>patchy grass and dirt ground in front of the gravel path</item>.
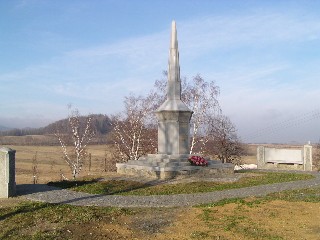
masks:
{"label": "patchy grass and dirt ground in front of the gravel path", "polygon": [[[0,239],[166,239],[168,236],[178,239],[174,238],[178,234],[188,234],[189,237],[186,239],[288,239],[285,229],[280,231],[278,228],[280,232],[277,233],[268,229],[268,225],[274,220],[288,221],[282,219],[274,208],[281,207],[277,205],[277,200],[287,201],[285,206],[289,209],[290,202],[312,202],[317,204],[314,207],[318,208],[320,188],[285,191],[264,198],[223,200],[189,208],[188,211],[171,208],[97,208],[22,202],[16,206],[0,206]],[[257,225],[254,222],[256,212],[259,208],[268,206],[271,209],[268,214],[259,213],[264,224]],[[177,218],[170,220],[175,224],[169,229],[175,231],[165,230],[167,224],[163,219],[168,214]],[[195,216],[195,219],[192,219],[194,224],[181,223],[180,219],[188,219],[190,214]],[[303,217],[300,212],[292,214]],[[150,219],[148,216],[151,216]],[[154,229],[158,234],[155,235]],[[296,231],[300,233],[304,229],[296,228]],[[169,235],[161,238],[164,233]],[[220,238],[217,238],[218,236]]]}

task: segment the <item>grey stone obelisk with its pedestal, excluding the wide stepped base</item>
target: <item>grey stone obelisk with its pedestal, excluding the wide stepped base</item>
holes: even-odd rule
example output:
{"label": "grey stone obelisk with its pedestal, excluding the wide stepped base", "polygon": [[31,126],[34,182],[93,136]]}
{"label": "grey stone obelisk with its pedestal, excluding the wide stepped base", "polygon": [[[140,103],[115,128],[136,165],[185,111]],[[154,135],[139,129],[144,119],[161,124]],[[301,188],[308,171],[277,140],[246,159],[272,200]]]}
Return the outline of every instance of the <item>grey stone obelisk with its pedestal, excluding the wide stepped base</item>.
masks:
{"label": "grey stone obelisk with its pedestal, excluding the wide stepped base", "polygon": [[158,154],[189,154],[192,111],[181,101],[181,80],[176,22],[172,21],[167,99],[156,111]]}

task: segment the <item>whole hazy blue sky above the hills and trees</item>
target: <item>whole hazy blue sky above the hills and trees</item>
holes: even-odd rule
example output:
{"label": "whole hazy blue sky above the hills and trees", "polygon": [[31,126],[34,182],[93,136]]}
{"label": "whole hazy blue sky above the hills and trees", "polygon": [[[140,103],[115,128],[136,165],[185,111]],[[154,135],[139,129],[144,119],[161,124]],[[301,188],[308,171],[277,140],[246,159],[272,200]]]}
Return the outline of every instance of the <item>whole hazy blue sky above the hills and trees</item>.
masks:
{"label": "whole hazy blue sky above the hills and trees", "polygon": [[320,138],[320,0],[1,0],[0,125],[112,114],[167,69],[200,73],[247,142]]}

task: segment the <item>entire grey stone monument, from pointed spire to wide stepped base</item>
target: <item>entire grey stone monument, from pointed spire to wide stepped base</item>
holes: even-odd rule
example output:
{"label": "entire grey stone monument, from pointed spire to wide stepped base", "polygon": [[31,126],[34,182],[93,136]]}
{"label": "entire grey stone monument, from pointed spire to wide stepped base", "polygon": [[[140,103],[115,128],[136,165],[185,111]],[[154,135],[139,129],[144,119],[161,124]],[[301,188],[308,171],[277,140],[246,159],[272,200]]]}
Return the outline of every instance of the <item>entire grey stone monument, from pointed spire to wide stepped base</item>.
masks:
{"label": "entire grey stone monument, from pointed spire to wide stepped base", "polygon": [[181,80],[177,29],[172,22],[166,101],[157,109],[158,153],[139,160],[117,163],[117,172],[135,176],[170,179],[179,175],[214,177],[233,174],[233,164],[208,161],[207,167],[191,166],[190,119],[192,111],[181,101]]}

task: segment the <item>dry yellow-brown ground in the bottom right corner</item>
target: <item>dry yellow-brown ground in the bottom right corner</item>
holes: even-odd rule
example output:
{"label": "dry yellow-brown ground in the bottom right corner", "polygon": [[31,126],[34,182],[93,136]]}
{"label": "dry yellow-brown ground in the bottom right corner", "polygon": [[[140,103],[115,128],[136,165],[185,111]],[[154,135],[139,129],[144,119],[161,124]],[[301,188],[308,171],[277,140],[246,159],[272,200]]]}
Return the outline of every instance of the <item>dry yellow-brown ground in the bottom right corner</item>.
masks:
{"label": "dry yellow-brown ground in the bottom right corner", "polygon": [[157,239],[320,239],[319,203],[277,200],[186,212]]}

